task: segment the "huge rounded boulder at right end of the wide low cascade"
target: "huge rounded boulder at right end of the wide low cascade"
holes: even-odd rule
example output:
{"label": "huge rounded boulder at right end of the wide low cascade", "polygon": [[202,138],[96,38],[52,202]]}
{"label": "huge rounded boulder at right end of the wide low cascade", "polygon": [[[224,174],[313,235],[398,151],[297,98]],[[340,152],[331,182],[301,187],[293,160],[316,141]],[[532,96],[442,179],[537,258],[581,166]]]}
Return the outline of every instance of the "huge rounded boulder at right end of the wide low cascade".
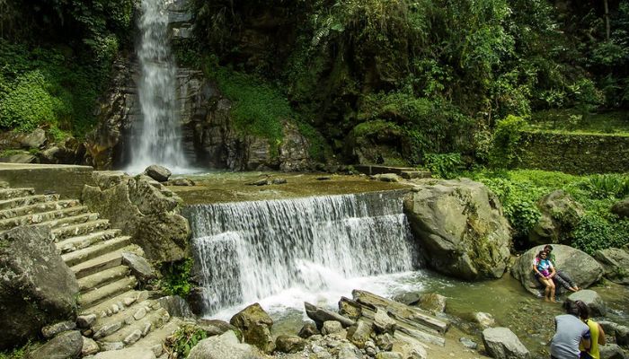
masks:
{"label": "huge rounded boulder at right end of the wide low cascade", "polygon": [[510,228],[498,197],[473,180],[417,180],[404,213],[435,270],[465,280],[499,278]]}

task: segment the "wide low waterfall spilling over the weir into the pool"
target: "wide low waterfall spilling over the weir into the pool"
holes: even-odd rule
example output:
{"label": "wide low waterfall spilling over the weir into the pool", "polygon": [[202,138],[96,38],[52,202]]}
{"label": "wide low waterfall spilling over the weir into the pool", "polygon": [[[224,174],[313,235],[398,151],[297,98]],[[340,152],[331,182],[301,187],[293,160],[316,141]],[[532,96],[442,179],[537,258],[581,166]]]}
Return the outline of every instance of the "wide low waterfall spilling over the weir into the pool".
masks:
{"label": "wide low waterfall spilling over the weir into the pool", "polygon": [[402,196],[387,191],[186,207],[205,313],[412,270],[418,256]]}

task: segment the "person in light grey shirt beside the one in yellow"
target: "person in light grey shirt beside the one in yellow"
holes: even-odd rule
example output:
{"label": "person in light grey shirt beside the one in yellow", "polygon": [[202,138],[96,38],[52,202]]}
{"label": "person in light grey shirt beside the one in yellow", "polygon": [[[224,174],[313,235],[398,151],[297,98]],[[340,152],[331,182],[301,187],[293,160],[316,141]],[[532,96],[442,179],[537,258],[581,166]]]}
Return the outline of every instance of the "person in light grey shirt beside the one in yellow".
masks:
{"label": "person in light grey shirt beside the one in yellow", "polygon": [[551,359],[578,359],[579,346],[591,345],[589,327],[580,319],[579,307],[573,302],[563,302],[566,314],[554,317],[555,333],[551,340]]}

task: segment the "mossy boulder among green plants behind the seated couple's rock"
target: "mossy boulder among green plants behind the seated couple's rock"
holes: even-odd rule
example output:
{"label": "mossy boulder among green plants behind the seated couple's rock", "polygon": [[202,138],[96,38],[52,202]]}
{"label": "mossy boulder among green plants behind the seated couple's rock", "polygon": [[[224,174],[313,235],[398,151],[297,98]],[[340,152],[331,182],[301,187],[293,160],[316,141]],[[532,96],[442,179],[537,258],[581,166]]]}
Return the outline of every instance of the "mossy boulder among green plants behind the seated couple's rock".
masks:
{"label": "mossy boulder among green plants behind the seated couple's rock", "polygon": [[583,207],[562,189],[557,189],[537,201],[542,217],[528,233],[533,244],[561,243],[585,214]]}

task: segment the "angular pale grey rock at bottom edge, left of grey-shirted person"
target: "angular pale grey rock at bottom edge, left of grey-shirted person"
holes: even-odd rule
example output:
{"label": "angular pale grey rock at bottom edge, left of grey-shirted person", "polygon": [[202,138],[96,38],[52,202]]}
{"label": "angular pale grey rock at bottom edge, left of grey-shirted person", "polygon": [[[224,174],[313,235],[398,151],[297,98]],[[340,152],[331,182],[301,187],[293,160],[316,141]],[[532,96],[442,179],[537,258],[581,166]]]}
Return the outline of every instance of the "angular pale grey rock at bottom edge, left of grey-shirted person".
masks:
{"label": "angular pale grey rock at bottom edge, left of grey-shirted person", "polygon": [[531,354],[509,328],[483,330],[483,345],[487,353],[496,359],[529,359]]}

